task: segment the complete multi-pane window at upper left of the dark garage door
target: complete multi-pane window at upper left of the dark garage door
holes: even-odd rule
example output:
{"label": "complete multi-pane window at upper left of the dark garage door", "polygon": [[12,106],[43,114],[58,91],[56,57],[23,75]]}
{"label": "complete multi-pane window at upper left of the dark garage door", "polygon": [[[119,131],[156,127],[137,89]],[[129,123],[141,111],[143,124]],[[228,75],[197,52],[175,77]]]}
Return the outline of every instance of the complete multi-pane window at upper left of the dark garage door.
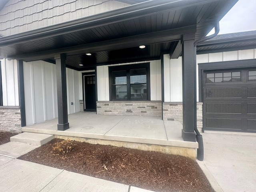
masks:
{"label": "complete multi-pane window at upper left of the dark garage door", "polygon": [[241,72],[207,73],[206,83],[241,82]]}

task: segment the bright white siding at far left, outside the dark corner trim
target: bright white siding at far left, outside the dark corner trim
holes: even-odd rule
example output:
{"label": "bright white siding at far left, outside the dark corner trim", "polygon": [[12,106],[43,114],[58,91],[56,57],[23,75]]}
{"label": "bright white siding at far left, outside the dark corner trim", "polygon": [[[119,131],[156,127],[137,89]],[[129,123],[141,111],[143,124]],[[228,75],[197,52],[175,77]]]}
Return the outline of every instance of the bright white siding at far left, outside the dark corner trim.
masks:
{"label": "bright white siding at far left, outside the dark corner trim", "polygon": [[19,106],[16,60],[1,59],[3,106]]}

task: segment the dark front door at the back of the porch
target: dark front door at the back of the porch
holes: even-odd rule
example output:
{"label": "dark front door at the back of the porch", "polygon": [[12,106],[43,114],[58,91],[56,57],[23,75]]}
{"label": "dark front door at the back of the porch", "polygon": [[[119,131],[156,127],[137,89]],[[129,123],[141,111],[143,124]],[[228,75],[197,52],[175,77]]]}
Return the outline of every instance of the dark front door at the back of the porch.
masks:
{"label": "dark front door at the back of the porch", "polygon": [[96,111],[95,75],[84,75],[84,111]]}

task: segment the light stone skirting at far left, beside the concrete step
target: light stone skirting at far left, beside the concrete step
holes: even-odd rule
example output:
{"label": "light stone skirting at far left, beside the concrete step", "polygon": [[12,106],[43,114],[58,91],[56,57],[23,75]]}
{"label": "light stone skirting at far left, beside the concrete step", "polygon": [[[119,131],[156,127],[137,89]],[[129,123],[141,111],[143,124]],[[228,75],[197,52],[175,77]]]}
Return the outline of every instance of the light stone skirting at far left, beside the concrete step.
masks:
{"label": "light stone skirting at far left, beside the concrete step", "polygon": [[21,132],[19,106],[0,106],[0,130]]}

